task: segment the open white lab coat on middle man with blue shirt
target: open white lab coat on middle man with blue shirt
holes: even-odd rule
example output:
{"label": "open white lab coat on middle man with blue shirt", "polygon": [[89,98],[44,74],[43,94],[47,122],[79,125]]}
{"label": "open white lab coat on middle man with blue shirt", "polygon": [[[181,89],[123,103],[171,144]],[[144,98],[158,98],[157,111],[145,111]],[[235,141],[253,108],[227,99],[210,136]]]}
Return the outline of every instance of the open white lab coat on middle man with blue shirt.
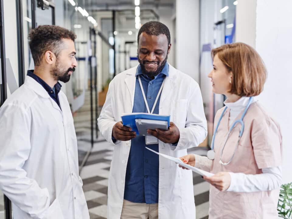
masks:
{"label": "open white lab coat on middle man with blue shirt", "polygon": [[[134,104],[137,66],[117,75],[109,84],[106,102],[98,119],[103,137],[112,141],[112,129],[123,113],[131,113]],[[143,100],[142,100],[143,101]],[[198,146],[207,135],[207,122],[199,85],[188,75],[169,65],[165,78],[159,114],[170,115],[179,128],[177,146],[159,141],[159,152],[180,157],[186,149]],[[114,144],[114,143],[113,143]],[[131,141],[116,141],[109,173],[108,218],[120,218]],[[156,156],[153,154],[153,156]],[[158,215],[165,218],[195,218],[192,172],[159,158]]]}

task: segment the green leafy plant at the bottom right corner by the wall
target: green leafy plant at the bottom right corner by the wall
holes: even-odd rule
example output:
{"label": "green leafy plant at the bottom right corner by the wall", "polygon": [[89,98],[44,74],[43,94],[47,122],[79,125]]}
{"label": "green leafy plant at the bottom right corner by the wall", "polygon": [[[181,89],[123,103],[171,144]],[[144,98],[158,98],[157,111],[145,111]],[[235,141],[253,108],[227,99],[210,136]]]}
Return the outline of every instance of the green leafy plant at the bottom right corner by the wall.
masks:
{"label": "green leafy plant at the bottom right corner by the wall", "polygon": [[292,182],[281,186],[277,210],[279,217],[292,219]]}

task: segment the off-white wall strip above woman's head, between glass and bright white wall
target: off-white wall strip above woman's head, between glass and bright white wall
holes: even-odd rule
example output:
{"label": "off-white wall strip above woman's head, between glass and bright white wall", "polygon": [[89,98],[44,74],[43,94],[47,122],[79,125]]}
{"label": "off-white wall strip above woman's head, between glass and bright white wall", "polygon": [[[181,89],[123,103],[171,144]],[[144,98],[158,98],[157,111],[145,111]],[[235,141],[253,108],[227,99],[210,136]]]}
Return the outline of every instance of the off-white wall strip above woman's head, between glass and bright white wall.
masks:
{"label": "off-white wall strip above woman's head, between glass and bright white wall", "polygon": [[[238,1],[236,5],[235,41],[245,42],[255,48],[256,0]],[[270,17],[273,17],[271,14]]]}

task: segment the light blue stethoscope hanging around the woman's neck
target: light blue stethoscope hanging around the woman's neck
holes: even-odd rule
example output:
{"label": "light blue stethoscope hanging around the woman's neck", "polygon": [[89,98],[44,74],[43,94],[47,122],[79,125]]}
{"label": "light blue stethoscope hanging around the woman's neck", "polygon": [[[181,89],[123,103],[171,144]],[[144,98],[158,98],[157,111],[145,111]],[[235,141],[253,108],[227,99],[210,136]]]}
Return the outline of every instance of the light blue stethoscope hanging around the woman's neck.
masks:
{"label": "light blue stethoscope hanging around the woman's neck", "polygon": [[[248,103],[247,106],[245,107],[245,110],[244,110],[244,112],[243,112],[243,114],[242,114],[240,120],[236,120],[236,121],[232,124],[231,128],[230,128],[229,131],[228,131],[228,135],[227,135],[227,137],[226,137],[226,140],[225,140],[225,142],[224,142],[223,148],[222,148],[222,150],[221,150],[221,155],[220,155],[220,160],[219,160],[219,163],[221,163],[221,164],[224,165],[224,166],[228,165],[228,164],[232,161],[232,159],[233,159],[233,157],[234,157],[234,155],[235,155],[235,151],[236,151],[236,149],[237,149],[237,147],[238,147],[238,144],[239,144],[240,138],[242,137],[242,133],[243,133],[243,130],[244,130],[243,117],[245,116],[247,109],[249,108],[250,104],[252,103],[252,99],[253,99],[253,97],[250,97],[250,98],[249,98],[249,103]],[[224,108],[224,110],[223,110],[223,112],[222,112],[222,114],[221,114],[221,116],[220,116],[220,118],[219,118],[219,121],[218,121],[218,123],[217,123],[217,126],[216,126],[216,128],[215,128],[214,135],[213,135],[213,138],[212,138],[212,143],[211,143],[211,150],[209,150],[209,151],[207,152],[207,157],[209,158],[209,160],[214,160],[214,158],[215,158],[214,140],[215,140],[215,136],[216,136],[217,129],[218,129],[218,127],[219,127],[220,121],[221,121],[221,119],[222,119],[222,117],[223,117],[223,115],[224,115],[226,109],[227,109],[227,106]],[[235,147],[235,150],[234,150],[234,152],[233,152],[233,155],[232,155],[231,159],[230,159],[227,163],[223,163],[222,160],[221,160],[221,159],[222,159],[223,150],[224,150],[224,148],[225,148],[225,144],[226,144],[226,142],[227,142],[227,140],[228,140],[228,137],[229,137],[229,135],[230,135],[232,129],[235,127],[236,123],[240,123],[240,124],[241,124],[241,130],[240,130],[240,133],[239,133],[239,136],[238,136],[238,141],[237,141],[237,144],[236,144],[236,147]]]}

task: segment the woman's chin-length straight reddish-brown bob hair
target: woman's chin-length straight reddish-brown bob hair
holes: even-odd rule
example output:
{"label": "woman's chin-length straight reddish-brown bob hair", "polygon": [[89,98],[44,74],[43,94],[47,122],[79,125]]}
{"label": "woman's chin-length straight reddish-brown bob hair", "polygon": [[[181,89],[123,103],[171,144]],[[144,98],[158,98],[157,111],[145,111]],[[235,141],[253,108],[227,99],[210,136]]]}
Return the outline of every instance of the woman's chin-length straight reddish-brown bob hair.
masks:
{"label": "woman's chin-length straight reddish-brown bob hair", "polygon": [[251,46],[245,43],[225,44],[211,52],[232,71],[231,94],[238,96],[257,96],[262,92],[266,81],[266,67],[262,58]]}

